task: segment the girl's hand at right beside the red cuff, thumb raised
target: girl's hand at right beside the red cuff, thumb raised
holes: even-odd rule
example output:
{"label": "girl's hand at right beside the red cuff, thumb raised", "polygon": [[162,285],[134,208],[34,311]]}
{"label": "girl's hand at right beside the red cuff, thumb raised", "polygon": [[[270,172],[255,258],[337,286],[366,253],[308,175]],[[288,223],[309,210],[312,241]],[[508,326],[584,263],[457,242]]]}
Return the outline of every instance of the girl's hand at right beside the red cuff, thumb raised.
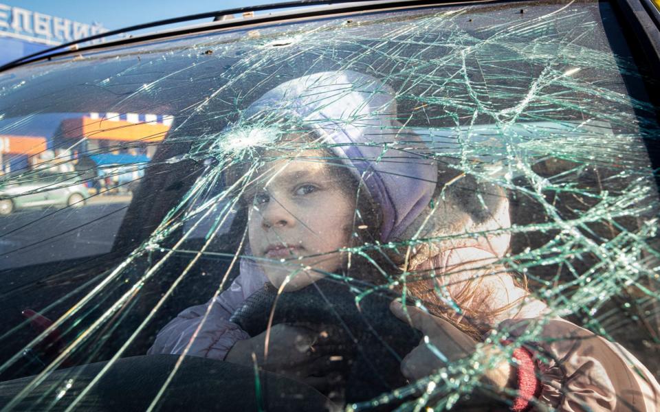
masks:
{"label": "girl's hand at right beside the red cuff, thumb raised", "polygon": [[[423,312],[414,306],[407,306],[404,311],[403,306],[397,301],[392,302],[390,309],[397,318],[424,334],[419,345],[401,361],[401,373],[406,378],[421,379],[449,363],[474,353],[476,341],[445,319]],[[489,346],[484,350],[494,352],[497,349]],[[511,365],[503,362],[498,367],[485,371],[485,378],[490,384],[503,389],[509,384],[511,374]]]}

